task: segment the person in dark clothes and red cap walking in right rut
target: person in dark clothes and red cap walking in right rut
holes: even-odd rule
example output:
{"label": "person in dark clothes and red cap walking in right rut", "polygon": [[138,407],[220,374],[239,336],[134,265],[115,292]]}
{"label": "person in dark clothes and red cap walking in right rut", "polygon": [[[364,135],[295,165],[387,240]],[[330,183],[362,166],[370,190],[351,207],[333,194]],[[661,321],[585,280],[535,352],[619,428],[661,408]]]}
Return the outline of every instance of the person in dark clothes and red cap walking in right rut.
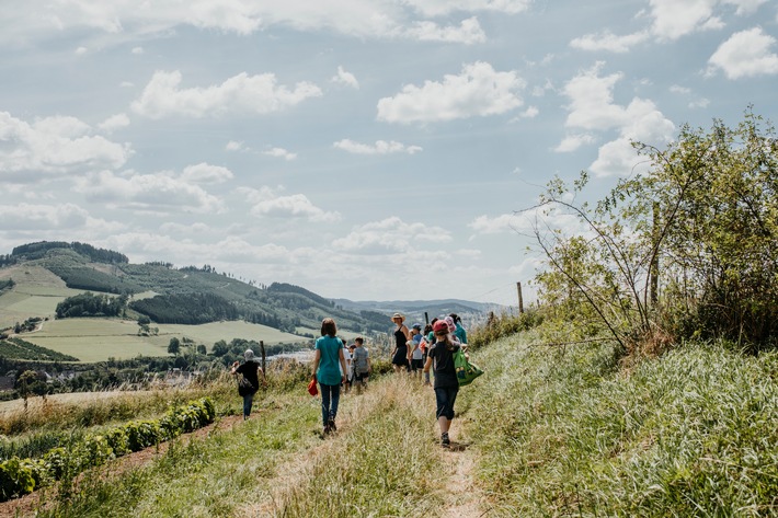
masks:
{"label": "person in dark clothes and red cap walking in right rut", "polygon": [[433,367],[435,371],[435,401],[437,403],[437,424],[441,427],[441,446],[448,448],[448,430],[454,419],[454,402],[459,392],[459,381],[457,370],[454,367],[454,353],[459,348],[458,344],[451,342],[448,336],[448,325],[444,320],[438,320],[433,326],[436,342],[427,352],[427,361],[424,365],[424,372],[430,372]]}

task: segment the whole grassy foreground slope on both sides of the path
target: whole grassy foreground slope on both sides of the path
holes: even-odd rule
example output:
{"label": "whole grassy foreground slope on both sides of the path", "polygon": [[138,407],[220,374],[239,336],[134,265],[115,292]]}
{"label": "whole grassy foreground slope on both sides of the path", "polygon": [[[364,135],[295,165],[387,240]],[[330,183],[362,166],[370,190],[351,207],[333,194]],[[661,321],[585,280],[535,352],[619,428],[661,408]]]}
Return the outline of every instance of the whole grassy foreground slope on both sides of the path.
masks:
{"label": "whole grassy foreground slope on both sides of the path", "polygon": [[441,450],[432,391],[393,377],[346,396],[322,442],[298,385],[41,516],[434,517],[464,482],[480,505],[451,516],[778,515],[777,354],[687,347],[623,371],[608,345],[528,339],[473,354],[487,375],[461,389],[453,428],[467,451]]}

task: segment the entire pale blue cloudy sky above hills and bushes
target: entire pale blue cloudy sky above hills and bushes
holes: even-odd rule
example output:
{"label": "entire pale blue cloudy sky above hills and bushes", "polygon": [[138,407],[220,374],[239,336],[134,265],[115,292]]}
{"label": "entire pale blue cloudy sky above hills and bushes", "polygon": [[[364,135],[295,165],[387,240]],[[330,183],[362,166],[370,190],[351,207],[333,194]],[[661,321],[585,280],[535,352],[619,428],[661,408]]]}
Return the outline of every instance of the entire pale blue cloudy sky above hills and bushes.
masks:
{"label": "entire pale blue cloudy sky above hills and bushes", "polygon": [[777,87],[776,0],[4,0],[0,253],[516,306],[550,180]]}

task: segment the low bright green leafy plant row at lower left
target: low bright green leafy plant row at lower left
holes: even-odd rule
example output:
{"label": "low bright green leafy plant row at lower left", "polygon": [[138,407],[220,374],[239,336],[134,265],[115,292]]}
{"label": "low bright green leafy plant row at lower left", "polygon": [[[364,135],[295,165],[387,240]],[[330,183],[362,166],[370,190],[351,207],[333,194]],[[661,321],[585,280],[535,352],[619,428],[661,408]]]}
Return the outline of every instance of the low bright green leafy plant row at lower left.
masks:
{"label": "low bright green leafy plant row at lower left", "polygon": [[0,502],[194,431],[213,423],[215,417],[213,400],[203,398],[183,407],[173,407],[159,419],[133,421],[101,434],[88,434],[83,440],[53,448],[39,459],[8,459],[0,463]]}

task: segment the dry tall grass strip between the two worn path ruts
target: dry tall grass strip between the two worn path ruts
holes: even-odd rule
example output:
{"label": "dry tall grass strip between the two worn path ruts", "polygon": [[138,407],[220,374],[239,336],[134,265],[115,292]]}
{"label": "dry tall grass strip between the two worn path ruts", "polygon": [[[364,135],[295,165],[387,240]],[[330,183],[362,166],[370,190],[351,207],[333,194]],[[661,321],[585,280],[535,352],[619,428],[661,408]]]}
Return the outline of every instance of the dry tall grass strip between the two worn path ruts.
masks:
{"label": "dry tall grass strip between the two worn path ruts", "polygon": [[272,516],[436,516],[447,463],[436,441],[432,390],[389,377],[351,401],[333,447]]}

